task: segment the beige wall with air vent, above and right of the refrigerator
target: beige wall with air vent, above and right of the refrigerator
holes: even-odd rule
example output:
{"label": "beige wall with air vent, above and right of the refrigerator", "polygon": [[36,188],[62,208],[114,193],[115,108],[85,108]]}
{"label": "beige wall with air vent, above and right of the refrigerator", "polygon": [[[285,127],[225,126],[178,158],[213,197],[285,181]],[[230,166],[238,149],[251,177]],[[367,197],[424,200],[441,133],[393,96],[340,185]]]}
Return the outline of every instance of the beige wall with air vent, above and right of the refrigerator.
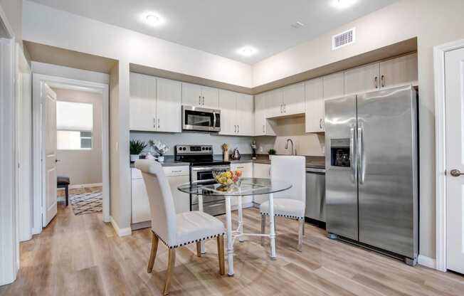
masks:
{"label": "beige wall with air vent, above and right of the refrigerator", "polygon": [[[419,235],[420,253],[430,258],[436,257],[433,46],[464,38],[463,16],[463,0],[403,0],[252,67],[253,86],[257,86],[408,38],[418,38],[421,150]],[[330,37],[354,26],[357,29],[357,43],[332,51]]]}

